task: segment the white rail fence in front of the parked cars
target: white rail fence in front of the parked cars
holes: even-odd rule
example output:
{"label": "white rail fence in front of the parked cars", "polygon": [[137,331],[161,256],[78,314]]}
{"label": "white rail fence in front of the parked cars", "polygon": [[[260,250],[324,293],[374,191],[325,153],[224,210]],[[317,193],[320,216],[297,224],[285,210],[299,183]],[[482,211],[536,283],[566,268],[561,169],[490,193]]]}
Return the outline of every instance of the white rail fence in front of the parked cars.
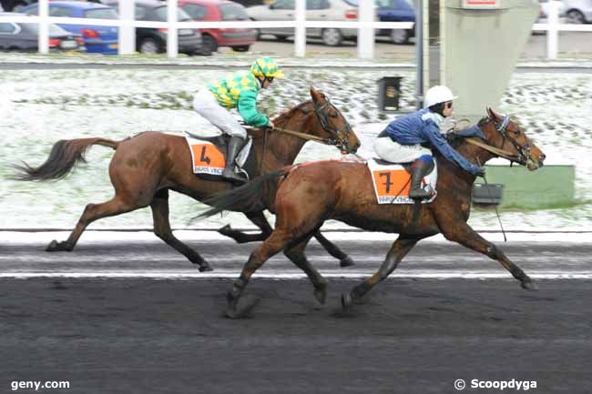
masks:
{"label": "white rail fence in front of the parked cars", "polygon": [[[38,23],[39,53],[49,52],[49,24],[61,25],[103,25],[119,28],[119,55],[129,55],[136,50],[135,28],[154,27],[166,28],[167,55],[174,58],[179,55],[177,32],[181,28],[294,28],[294,54],[297,57],[306,55],[306,28],[354,28],[358,29],[358,57],[372,59],[374,56],[374,29],[412,29],[413,22],[375,22],[373,0],[361,0],[359,18],[355,22],[307,21],[306,0],[296,0],[295,19],[292,21],[232,21],[232,22],[179,22],[177,20],[178,0],[168,0],[167,22],[151,22],[134,20],[134,0],[119,1],[119,19],[93,19],[49,16],[48,0],[39,0],[39,15],[31,16],[0,16],[0,22]],[[559,23],[561,2],[552,1],[546,24],[533,25],[533,31],[546,31],[546,55],[555,59],[558,53],[559,32],[592,32],[592,25],[568,25]]]}

